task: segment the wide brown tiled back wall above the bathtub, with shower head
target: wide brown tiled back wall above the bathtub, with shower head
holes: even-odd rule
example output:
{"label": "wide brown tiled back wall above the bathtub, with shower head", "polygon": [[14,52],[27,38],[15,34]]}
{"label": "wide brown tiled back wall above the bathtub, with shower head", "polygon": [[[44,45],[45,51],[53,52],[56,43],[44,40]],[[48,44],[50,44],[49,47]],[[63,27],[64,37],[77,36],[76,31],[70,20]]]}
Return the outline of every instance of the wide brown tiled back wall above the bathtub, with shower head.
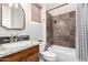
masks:
{"label": "wide brown tiled back wall above the bathtub, with shower head", "polygon": [[53,17],[53,43],[56,45],[76,47],[76,12]]}

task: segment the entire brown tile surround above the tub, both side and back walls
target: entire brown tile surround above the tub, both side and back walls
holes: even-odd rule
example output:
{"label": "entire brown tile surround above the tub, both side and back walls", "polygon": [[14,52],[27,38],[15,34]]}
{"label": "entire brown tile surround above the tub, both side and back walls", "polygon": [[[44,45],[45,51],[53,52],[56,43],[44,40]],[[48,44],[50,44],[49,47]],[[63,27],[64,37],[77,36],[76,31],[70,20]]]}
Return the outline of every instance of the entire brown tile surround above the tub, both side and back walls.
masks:
{"label": "entire brown tile surround above the tub, both side and back walls", "polygon": [[47,15],[47,44],[76,47],[76,12],[61,15]]}

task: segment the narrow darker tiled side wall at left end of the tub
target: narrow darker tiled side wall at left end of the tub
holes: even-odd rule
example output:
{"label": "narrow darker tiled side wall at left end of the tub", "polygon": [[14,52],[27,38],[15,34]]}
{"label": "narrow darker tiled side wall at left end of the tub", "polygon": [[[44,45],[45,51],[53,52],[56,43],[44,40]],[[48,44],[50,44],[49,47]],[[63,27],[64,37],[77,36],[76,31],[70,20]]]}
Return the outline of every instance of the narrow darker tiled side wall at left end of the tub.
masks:
{"label": "narrow darker tiled side wall at left end of the tub", "polygon": [[52,17],[47,13],[47,47],[50,46],[53,42],[52,33]]}

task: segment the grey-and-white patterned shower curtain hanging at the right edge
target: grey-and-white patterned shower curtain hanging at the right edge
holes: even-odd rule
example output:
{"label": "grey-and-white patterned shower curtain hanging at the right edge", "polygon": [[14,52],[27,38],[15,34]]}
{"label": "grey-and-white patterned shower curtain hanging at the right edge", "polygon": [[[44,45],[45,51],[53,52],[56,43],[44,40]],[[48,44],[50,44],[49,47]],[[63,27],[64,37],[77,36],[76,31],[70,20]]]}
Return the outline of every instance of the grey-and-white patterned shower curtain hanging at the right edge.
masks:
{"label": "grey-and-white patterned shower curtain hanging at the right edge", "polygon": [[76,44],[78,59],[88,62],[88,3],[77,4]]}

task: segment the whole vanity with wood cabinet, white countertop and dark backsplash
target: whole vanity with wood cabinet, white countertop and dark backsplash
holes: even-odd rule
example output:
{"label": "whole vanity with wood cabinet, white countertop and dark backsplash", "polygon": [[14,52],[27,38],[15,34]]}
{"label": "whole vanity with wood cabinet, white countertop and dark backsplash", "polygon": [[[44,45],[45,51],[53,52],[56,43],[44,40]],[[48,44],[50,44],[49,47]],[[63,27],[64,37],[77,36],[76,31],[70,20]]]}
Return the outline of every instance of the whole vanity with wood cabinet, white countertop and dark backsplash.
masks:
{"label": "whole vanity with wood cabinet, white countertop and dark backsplash", "polygon": [[19,35],[18,39],[0,37],[0,62],[38,62],[39,42],[30,41],[29,35]]}

